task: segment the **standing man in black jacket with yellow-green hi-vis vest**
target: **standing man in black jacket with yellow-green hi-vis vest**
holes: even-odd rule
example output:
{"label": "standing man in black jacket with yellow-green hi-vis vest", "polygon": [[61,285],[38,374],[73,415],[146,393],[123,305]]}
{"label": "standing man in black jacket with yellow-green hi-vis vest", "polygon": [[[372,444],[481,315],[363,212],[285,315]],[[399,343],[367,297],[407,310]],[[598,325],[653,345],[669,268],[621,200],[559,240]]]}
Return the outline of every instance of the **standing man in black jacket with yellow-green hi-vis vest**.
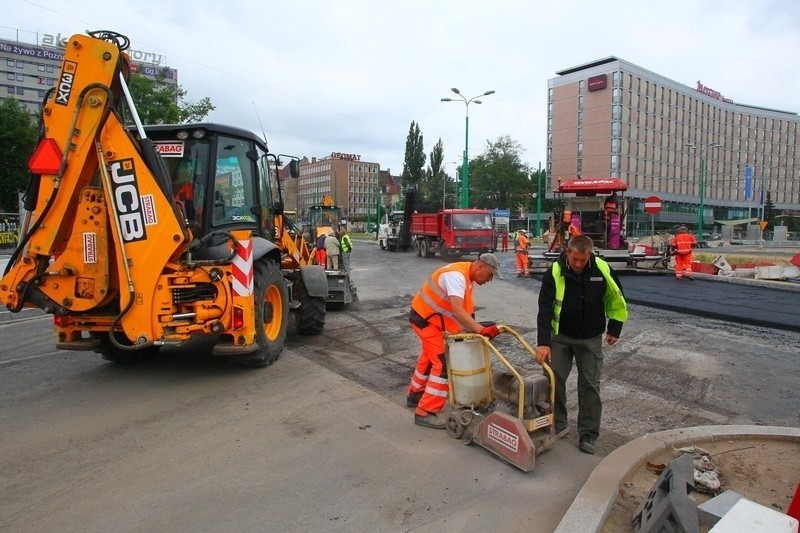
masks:
{"label": "standing man in black jacket with yellow-green hi-vis vest", "polygon": [[600,436],[603,333],[606,344],[614,346],[627,319],[622,284],[608,263],[592,253],[592,239],[586,235],[570,239],[542,279],[536,362],[547,361],[553,370],[555,431],[562,433],[569,427],[566,383],[575,360],[578,447],[584,453],[595,452]]}

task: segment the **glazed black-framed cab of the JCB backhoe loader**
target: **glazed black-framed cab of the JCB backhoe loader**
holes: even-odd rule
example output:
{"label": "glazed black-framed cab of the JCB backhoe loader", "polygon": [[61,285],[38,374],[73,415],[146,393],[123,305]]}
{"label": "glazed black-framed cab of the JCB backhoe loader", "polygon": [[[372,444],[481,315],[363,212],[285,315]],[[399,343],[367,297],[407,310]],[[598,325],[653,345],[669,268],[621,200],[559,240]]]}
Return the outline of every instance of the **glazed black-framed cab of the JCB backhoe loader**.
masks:
{"label": "glazed black-framed cab of the JCB backhoe loader", "polygon": [[256,135],[209,123],[146,126],[145,131],[195,237],[252,228],[273,240],[280,191],[267,147]]}

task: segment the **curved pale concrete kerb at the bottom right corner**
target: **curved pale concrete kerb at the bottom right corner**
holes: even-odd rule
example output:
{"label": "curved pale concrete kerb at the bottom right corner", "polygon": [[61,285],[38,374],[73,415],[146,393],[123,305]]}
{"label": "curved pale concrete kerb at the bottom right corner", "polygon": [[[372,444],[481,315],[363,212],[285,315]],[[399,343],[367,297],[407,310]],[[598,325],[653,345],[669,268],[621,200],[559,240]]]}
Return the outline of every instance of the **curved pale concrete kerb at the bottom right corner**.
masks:
{"label": "curved pale concrete kerb at the bottom right corner", "polygon": [[556,528],[556,533],[602,530],[617,502],[622,480],[662,450],[694,442],[753,438],[800,441],[800,428],[778,426],[698,426],[651,433],[620,446],[598,464]]}

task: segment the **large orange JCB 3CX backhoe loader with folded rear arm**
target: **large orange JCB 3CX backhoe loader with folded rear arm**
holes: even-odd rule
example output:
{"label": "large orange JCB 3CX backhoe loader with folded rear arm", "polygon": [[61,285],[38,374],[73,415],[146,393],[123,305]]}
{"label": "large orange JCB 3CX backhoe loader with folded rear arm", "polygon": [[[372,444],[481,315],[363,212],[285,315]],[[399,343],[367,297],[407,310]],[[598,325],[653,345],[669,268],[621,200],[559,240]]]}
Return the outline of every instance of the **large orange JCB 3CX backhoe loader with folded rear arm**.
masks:
{"label": "large orange JCB 3CX backhoe loader with folded rear arm", "polygon": [[[324,269],[287,231],[280,158],[232,126],[142,125],[129,44],[108,31],[67,41],[0,301],[53,315],[63,350],[124,363],[206,336],[216,355],[268,365],[289,311],[318,334],[328,299]],[[287,169],[299,175],[296,158]]]}

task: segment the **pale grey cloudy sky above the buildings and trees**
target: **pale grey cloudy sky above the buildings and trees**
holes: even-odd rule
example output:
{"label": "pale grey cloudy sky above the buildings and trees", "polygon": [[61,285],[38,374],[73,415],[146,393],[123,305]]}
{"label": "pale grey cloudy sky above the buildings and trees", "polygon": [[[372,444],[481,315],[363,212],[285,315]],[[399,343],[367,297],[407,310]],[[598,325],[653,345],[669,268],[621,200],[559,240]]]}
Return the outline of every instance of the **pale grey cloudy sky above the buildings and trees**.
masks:
{"label": "pale grey cloudy sky above the buildings and trees", "polygon": [[[360,154],[403,168],[411,121],[425,152],[461,160],[510,136],[544,164],[547,80],[617,56],[726,98],[800,111],[797,0],[7,0],[0,37],[107,29],[166,56],[209,117],[261,134],[272,151]],[[17,32],[19,30],[19,32]],[[447,165],[452,174],[455,165]]]}

